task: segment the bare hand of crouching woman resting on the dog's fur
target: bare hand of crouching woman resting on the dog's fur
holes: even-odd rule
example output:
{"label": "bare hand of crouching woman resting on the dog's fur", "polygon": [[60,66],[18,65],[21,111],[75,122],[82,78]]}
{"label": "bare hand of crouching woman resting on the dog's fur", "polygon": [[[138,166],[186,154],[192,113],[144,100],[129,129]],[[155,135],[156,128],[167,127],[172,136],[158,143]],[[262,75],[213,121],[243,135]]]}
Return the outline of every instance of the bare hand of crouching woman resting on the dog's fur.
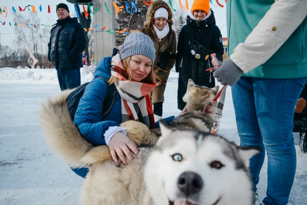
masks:
{"label": "bare hand of crouching woman resting on the dog's fur", "polygon": [[117,165],[119,163],[117,156],[124,163],[124,165],[127,165],[128,163],[125,158],[125,155],[127,156],[129,162],[131,162],[133,160],[131,151],[135,155],[138,155],[139,153],[139,150],[135,143],[121,132],[116,132],[112,136],[108,146],[110,149],[111,156]]}

